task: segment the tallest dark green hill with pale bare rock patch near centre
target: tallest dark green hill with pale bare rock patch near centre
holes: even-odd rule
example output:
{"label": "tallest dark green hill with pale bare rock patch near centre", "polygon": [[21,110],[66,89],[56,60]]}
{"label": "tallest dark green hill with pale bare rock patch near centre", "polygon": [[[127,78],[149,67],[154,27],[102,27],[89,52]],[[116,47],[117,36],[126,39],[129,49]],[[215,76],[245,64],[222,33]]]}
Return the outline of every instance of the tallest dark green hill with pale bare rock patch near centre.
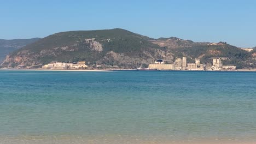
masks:
{"label": "tallest dark green hill with pale bare rock patch near centre", "polygon": [[38,65],[52,61],[104,64],[106,67],[118,65],[136,68],[154,61],[155,51],[161,47],[151,43],[147,37],[124,29],[98,31],[72,31],[49,35],[36,43],[22,47],[11,53],[2,65],[15,67],[20,64]]}

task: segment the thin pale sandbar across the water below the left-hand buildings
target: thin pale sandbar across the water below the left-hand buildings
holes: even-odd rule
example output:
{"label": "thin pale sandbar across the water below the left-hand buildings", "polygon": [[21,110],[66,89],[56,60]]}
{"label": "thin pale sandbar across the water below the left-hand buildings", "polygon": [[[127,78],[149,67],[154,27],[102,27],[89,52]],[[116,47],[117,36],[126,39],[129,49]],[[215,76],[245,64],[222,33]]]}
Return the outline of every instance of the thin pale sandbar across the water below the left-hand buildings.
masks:
{"label": "thin pale sandbar across the water below the left-hand buildings", "polygon": [[63,69],[63,70],[55,70],[55,69],[0,69],[0,70],[12,70],[12,71],[111,71],[111,70],[89,70],[89,69],[78,69],[78,70],[66,70],[66,69]]}

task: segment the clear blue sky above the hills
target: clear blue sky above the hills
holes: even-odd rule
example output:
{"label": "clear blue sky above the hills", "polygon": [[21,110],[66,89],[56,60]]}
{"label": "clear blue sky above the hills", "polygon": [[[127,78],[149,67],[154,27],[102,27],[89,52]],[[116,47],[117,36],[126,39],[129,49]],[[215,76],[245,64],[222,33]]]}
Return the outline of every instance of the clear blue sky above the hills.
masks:
{"label": "clear blue sky above the hills", "polygon": [[152,38],[256,46],[256,1],[0,0],[0,39],[124,28]]}

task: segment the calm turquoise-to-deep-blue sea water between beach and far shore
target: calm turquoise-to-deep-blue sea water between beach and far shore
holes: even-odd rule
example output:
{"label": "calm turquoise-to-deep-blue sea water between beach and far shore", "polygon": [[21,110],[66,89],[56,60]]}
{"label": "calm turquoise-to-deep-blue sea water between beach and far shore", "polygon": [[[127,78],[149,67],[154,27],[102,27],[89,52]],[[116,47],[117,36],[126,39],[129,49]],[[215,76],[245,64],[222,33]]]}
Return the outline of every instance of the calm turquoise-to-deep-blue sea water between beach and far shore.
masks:
{"label": "calm turquoise-to-deep-blue sea water between beach and far shore", "polygon": [[255,140],[256,73],[0,71],[0,136]]}

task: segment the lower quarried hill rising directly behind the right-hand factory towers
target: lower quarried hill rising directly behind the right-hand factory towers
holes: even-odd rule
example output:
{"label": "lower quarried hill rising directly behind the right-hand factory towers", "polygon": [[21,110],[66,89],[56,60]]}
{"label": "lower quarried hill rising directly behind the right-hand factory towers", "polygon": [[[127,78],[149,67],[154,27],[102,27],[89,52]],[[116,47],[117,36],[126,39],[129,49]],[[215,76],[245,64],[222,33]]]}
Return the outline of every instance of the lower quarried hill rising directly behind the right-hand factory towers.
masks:
{"label": "lower quarried hill rising directly behind the right-hand factory towers", "polygon": [[254,68],[256,66],[252,52],[247,52],[225,43],[183,47],[176,50],[176,55],[179,53],[189,56],[190,58],[188,60],[190,62],[194,61],[194,58],[199,58],[201,59],[201,63],[207,64],[212,63],[211,57],[227,57],[228,59],[223,61],[223,64],[236,65],[237,68]]}

